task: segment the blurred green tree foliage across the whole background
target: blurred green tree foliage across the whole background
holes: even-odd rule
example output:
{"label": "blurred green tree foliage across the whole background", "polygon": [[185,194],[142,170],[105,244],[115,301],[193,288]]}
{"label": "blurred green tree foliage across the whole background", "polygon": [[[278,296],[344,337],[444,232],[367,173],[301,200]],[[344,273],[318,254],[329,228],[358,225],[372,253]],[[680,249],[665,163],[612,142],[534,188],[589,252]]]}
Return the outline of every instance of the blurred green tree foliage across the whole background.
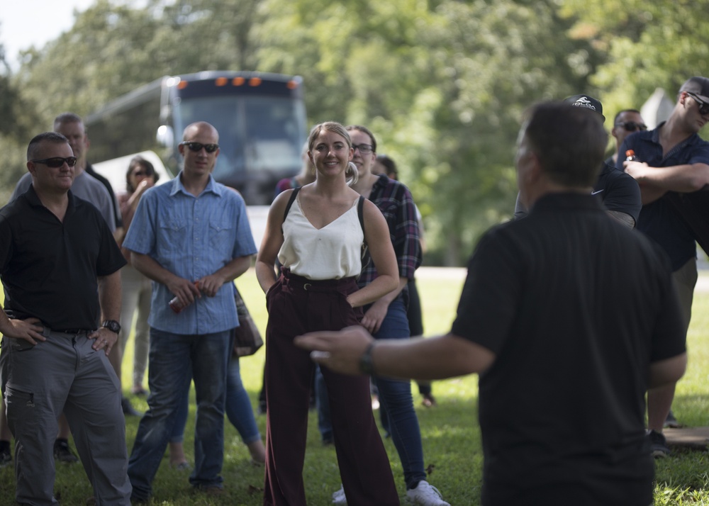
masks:
{"label": "blurred green tree foliage across the whole background", "polygon": [[301,75],[311,124],[369,126],[423,212],[431,258],[459,264],[512,214],[525,109],[586,92],[610,116],[657,86],[673,96],[706,73],[708,3],[96,0],[9,82],[48,125],[165,74]]}

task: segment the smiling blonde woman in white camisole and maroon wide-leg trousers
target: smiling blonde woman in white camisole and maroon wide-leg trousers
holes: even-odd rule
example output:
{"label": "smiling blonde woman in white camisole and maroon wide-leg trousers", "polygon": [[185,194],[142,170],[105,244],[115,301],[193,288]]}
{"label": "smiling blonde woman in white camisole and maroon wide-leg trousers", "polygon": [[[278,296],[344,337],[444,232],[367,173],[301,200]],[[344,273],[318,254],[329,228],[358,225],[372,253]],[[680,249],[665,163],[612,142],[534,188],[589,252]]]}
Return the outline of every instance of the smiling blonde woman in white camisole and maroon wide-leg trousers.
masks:
{"label": "smiling blonde woman in white camisole and maroon wide-leg trousers", "polygon": [[[264,505],[308,503],[303,461],[314,364],[308,352],[293,344],[294,337],[357,325],[362,305],[393,291],[398,283],[389,228],[370,201],[364,201],[360,225],[359,193],[347,184],[347,176],[357,177],[352,154],[350,135],[339,123],[321,123],[311,130],[308,156],[317,179],[302,187],[287,211],[293,190],[275,199],[256,260],[269,312]],[[363,240],[379,276],[357,290]],[[277,258],[283,265],[280,276],[274,272]],[[398,505],[389,459],[372,415],[369,379],[327,368],[323,376],[347,500],[353,505]]]}

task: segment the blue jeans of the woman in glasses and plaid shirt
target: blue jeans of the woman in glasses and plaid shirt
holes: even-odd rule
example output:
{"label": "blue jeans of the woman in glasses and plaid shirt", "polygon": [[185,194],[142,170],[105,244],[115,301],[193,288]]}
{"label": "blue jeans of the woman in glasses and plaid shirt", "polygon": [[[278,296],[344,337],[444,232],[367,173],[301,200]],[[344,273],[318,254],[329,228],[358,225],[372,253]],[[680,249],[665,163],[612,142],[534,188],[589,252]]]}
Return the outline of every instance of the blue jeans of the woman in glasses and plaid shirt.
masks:
{"label": "blue jeans of the woman in glasses and plaid shirt", "polygon": [[[400,296],[389,304],[384,321],[374,339],[409,339],[406,305]],[[401,459],[406,488],[414,488],[420,480],[426,479],[423,468],[423,448],[418,417],[413,409],[411,381],[374,377],[379,390],[380,409],[386,410],[386,419],[391,440]]]}

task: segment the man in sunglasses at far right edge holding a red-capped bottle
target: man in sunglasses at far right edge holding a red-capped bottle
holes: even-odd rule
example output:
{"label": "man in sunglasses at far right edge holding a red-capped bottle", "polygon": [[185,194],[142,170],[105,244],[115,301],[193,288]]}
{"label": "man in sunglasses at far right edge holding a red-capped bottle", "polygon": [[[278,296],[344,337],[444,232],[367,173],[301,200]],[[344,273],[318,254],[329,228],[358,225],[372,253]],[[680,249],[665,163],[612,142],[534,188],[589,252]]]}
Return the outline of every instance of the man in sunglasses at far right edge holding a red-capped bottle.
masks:
{"label": "man in sunglasses at far right edge holding a red-capped bottle", "polygon": [[[697,281],[696,242],[709,251],[709,142],[699,130],[709,122],[709,79],[691,77],[679,89],[668,120],[657,128],[629,135],[618,151],[618,169],[640,184],[641,230],[669,254],[687,327]],[[635,151],[637,161],[625,162]],[[655,456],[669,454],[662,427],[674,386],[650,390],[647,417]]]}

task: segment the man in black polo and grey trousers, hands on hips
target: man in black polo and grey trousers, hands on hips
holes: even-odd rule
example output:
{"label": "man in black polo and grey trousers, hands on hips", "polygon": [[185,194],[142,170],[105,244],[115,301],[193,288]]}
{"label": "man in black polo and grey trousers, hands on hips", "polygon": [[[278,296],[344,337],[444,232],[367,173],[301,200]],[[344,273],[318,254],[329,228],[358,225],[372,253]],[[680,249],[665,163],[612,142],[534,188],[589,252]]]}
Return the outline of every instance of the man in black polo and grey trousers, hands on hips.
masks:
{"label": "man in black polo and grey trousers, hands on hips", "polygon": [[52,447],[64,410],[96,504],[130,505],[121,392],[107,357],[121,330],[125,259],[99,211],[69,191],[77,159],[67,138],[37,135],[27,157],[32,186],[0,210],[2,389],[16,500],[55,502]]}

